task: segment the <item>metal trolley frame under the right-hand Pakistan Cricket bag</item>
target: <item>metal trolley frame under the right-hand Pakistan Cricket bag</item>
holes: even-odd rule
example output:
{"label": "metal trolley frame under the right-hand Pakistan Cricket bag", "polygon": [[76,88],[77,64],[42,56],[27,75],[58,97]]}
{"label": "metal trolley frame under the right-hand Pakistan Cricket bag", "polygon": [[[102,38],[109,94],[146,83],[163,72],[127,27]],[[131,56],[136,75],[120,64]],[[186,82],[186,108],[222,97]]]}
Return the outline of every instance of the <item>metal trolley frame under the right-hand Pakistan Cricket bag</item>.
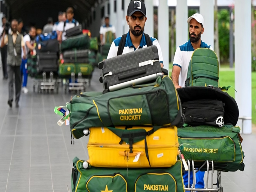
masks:
{"label": "metal trolley frame under the right-hand Pakistan Cricket bag", "polygon": [[[188,160],[188,187],[190,187],[190,170],[191,170],[191,164],[192,164],[192,174],[193,174],[193,185],[191,188],[185,188],[185,191],[204,191],[204,192],[223,192],[223,188],[220,183],[220,178],[221,178],[221,172],[217,171],[217,183],[213,183],[213,174],[214,174],[214,163],[213,161],[208,161],[206,160],[202,166],[197,169],[195,168],[194,160]],[[199,189],[195,188],[195,182],[196,182],[196,173],[200,171],[204,166],[207,166],[207,171],[206,171],[206,188],[204,189]],[[212,167],[212,186],[209,188],[209,168]],[[216,186],[216,188],[213,188],[213,185]]]}

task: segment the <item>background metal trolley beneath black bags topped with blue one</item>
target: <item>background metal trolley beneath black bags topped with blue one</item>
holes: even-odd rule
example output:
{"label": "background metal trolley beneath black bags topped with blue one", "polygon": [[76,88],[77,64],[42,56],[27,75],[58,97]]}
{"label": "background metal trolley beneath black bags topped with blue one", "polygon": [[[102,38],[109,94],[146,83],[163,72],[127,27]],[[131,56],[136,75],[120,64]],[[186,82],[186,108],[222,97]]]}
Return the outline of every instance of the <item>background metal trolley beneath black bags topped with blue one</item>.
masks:
{"label": "background metal trolley beneath black bags topped with blue one", "polygon": [[56,92],[59,92],[59,83],[61,83],[61,80],[59,79],[54,79],[53,78],[53,72],[50,72],[50,78],[47,80],[46,78],[46,72],[43,72],[43,79],[42,80],[36,80],[34,79],[33,82],[33,92],[36,92],[36,87],[37,87],[37,92],[42,93],[42,90],[45,91],[47,90],[47,93],[50,91],[53,92],[56,89]]}

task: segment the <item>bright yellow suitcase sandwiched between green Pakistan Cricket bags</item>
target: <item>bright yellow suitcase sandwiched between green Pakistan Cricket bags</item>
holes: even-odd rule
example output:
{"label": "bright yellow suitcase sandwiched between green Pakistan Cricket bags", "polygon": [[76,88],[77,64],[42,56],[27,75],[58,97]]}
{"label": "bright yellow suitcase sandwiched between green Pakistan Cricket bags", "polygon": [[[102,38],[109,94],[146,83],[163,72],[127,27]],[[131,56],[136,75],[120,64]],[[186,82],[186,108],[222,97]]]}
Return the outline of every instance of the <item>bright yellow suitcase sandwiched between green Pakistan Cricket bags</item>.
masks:
{"label": "bright yellow suitcase sandwiched between green Pakistan Cricket bags", "polygon": [[179,155],[177,127],[152,130],[152,127],[90,129],[87,145],[90,164],[94,167],[171,167]]}

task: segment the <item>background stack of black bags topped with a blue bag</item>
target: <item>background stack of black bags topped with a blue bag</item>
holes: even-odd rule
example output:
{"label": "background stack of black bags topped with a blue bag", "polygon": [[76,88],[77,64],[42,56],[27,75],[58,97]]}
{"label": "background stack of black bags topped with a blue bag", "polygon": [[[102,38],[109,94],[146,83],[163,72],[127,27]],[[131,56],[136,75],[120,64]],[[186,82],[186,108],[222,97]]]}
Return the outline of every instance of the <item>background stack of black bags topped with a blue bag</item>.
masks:
{"label": "background stack of black bags topped with a blue bag", "polygon": [[46,36],[41,34],[36,37],[36,52],[37,73],[58,72],[59,42],[56,31]]}

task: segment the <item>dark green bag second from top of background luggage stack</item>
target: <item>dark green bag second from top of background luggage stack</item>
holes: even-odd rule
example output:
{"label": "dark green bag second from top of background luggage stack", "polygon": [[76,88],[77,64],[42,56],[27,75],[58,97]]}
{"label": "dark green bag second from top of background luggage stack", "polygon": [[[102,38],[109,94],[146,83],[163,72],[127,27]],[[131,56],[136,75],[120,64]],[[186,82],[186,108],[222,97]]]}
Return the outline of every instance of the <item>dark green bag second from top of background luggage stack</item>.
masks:
{"label": "dark green bag second from top of background luggage stack", "polygon": [[90,37],[88,35],[83,35],[83,34],[69,37],[66,40],[62,41],[60,48],[61,48],[61,51],[64,51],[67,49],[74,49],[74,48],[89,49]]}

